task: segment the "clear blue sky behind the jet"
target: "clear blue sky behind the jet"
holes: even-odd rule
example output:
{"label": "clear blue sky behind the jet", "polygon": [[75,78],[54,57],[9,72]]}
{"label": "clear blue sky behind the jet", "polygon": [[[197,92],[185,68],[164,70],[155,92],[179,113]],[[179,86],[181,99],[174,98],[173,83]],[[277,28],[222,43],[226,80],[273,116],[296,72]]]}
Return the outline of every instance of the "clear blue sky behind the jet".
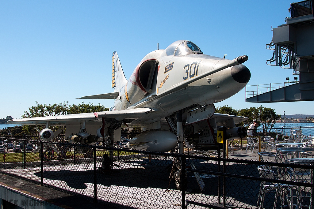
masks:
{"label": "clear blue sky behind the jet", "polygon": [[[293,80],[291,69],[266,65],[271,27],[290,17],[291,1],[0,1],[0,118],[20,118],[28,107],[112,92],[112,52],[126,77],[149,52],[176,40],[204,54],[248,55],[248,85]],[[247,103],[245,91],[216,103],[236,109],[274,108],[313,114],[313,102]]]}

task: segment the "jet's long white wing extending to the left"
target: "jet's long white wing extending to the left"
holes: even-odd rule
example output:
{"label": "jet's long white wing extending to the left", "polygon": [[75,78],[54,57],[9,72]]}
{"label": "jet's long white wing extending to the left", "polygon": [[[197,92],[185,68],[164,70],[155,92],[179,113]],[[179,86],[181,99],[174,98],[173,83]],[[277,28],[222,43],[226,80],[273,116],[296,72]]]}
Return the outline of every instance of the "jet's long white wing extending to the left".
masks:
{"label": "jet's long white wing extending to the left", "polygon": [[49,122],[50,125],[79,125],[81,121],[102,122],[102,118],[114,118],[117,121],[124,119],[149,118],[154,115],[155,110],[150,108],[136,108],[127,110],[113,110],[104,112],[89,112],[72,115],[56,115],[38,118],[21,118],[8,121],[8,124],[22,125],[45,125]]}

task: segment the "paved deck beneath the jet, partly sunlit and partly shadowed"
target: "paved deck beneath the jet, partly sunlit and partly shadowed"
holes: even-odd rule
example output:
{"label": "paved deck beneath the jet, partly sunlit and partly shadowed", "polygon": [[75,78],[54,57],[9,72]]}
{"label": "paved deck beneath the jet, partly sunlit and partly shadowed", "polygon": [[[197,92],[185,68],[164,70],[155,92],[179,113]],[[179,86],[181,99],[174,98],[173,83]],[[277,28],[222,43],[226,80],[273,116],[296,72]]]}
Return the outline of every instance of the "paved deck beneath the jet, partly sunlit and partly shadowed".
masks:
{"label": "paved deck beneath the jet, partly sunlit and partly shadowed", "polygon": [[[206,153],[217,156],[217,153]],[[221,154],[222,156],[222,154]],[[257,152],[247,152],[246,150],[236,150],[229,152],[229,158],[258,160]],[[199,162],[199,166],[208,165],[207,162]],[[97,178],[98,203],[93,202],[93,163],[86,162],[78,165],[47,165],[44,167],[44,184],[23,180],[23,178],[40,182],[40,167],[29,167],[22,172],[20,168],[7,168],[6,172],[18,175],[16,178],[0,173],[0,185],[4,185],[34,196],[40,200],[49,202],[62,208],[181,208],[181,191],[177,190],[175,184],[169,183],[169,173],[171,170],[171,159],[164,157],[155,158],[151,163],[148,159],[132,159],[119,161],[119,167],[114,173],[102,175]],[[214,165],[214,164],[213,164]],[[101,162],[97,162],[97,167]],[[165,172],[166,171],[166,172]],[[73,178],[74,177],[74,178]],[[120,178],[119,178],[120,177]],[[122,178],[121,178],[122,177]],[[186,193],[186,198],[190,200],[202,200],[202,202],[212,202],[217,198],[215,192],[195,192],[199,190],[194,174],[189,174],[191,182],[190,190]],[[206,185],[210,185],[214,176],[204,176]],[[258,186],[258,184],[257,184]],[[52,188],[62,188],[70,192],[59,191]],[[167,190],[167,187],[169,190]],[[237,191],[234,189],[234,191]],[[76,193],[76,196],[71,194]],[[82,196],[77,196],[82,195]],[[82,198],[84,197],[84,198]],[[230,198],[228,204],[231,206],[242,205],[245,208],[255,208],[254,202],[239,202],[239,198]],[[128,205],[127,207],[123,205]],[[197,208],[197,207],[196,207]]]}

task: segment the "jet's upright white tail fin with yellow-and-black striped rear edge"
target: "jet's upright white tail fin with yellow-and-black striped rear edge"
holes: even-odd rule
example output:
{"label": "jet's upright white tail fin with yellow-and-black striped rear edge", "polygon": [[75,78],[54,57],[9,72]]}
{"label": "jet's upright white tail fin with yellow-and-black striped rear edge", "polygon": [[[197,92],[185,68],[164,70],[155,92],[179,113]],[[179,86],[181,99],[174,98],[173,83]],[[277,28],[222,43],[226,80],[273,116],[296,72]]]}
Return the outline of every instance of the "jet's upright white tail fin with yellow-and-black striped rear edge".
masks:
{"label": "jet's upright white tail fin with yellow-and-black striped rear edge", "polygon": [[125,85],[127,79],[125,78],[122,66],[116,51],[112,53],[112,88],[115,91],[120,91],[121,87]]}

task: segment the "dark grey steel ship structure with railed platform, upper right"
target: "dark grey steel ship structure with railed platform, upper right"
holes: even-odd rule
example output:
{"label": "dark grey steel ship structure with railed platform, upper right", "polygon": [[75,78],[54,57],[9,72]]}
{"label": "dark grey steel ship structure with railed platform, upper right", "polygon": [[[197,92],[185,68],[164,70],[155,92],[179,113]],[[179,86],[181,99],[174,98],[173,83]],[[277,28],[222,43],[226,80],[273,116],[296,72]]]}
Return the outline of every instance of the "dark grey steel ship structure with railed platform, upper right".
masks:
{"label": "dark grey steel ship structure with railed platform, upper right", "polygon": [[291,3],[291,18],[285,18],[286,24],[273,28],[273,39],[266,45],[273,51],[267,65],[293,69],[294,81],[286,78],[282,84],[246,86],[246,102],[314,100],[313,7],[313,0]]}

